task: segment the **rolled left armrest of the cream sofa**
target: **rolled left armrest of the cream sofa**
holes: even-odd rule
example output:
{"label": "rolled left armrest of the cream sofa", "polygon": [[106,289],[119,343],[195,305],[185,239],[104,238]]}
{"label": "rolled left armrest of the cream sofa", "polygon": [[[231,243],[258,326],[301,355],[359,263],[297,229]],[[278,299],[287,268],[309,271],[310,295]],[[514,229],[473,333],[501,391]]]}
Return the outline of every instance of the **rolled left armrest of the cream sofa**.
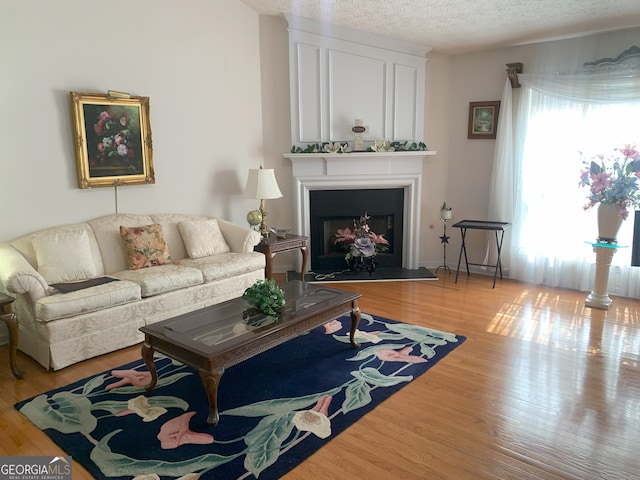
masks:
{"label": "rolled left armrest of the cream sofa", "polygon": [[26,293],[32,301],[49,295],[47,281],[8,243],[0,244],[0,283],[9,293]]}

